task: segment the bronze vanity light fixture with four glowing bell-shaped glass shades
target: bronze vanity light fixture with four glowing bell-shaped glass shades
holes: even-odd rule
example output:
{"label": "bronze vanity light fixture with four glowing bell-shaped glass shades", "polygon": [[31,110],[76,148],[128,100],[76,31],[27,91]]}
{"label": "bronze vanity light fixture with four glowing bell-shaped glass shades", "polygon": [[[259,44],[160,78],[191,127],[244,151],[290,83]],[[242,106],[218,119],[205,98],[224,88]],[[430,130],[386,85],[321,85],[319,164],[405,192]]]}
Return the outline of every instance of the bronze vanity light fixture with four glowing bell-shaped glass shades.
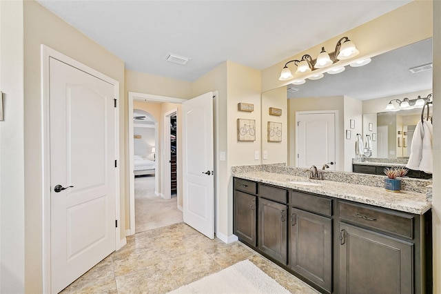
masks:
{"label": "bronze vanity light fixture with four glowing bell-shaped glass shades", "polygon": [[[280,77],[278,79],[280,81],[288,81],[289,79],[293,79],[294,75],[307,74],[308,72],[311,72],[311,75],[302,79],[296,79],[292,82],[292,84],[304,84],[305,79],[321,79],[323,77],[323,74],[314,74],[314,70],[317,70],[319,68],[326,68],[340,60],[350,59],[358,55],[358,53],[359,51],[357,50],[353,41],[349,40],[348,37],[342,37],[340,40],[338,40],[334,52],[331,52],[330,54],[326,52],[325,47],[322,47],[322,50],[316,59],[312,59],[311,55],[305,54],[302,56],[301,60],[293,59],[288,61],[287,63],[285,63],[285,66],[283,67],[282,72],[280,72]],[[368,59],[369,61],[367,61]],[[356,63],[356,66],[364,66],[367,63],[371,62],[371,59],[368,59],[358,61],[358,63]],[[297,66],[297,70],[294,75],[288,68],[289,63],[294,63]],[[343,70],[345,70],[345,67],[341,66],[338,68],[332,68],[328,70],[327,73],[333,75],[342,72]]]}

